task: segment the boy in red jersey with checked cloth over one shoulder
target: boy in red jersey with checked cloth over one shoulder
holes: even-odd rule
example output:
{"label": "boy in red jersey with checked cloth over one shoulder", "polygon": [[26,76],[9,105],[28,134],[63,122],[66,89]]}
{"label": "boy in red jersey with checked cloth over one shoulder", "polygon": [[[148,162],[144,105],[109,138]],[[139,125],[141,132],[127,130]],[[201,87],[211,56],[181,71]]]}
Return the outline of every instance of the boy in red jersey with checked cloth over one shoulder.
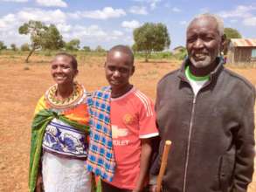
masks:
{"label": "boy in red jersey with checked cloth over one shoulder", "polygon": [[107,52],[105,72],[110,87],[93,93],[87,168],[100,175],[103,192],[142,191],[158,135],[154,105],[129,83],[135,66],[127,46]]}

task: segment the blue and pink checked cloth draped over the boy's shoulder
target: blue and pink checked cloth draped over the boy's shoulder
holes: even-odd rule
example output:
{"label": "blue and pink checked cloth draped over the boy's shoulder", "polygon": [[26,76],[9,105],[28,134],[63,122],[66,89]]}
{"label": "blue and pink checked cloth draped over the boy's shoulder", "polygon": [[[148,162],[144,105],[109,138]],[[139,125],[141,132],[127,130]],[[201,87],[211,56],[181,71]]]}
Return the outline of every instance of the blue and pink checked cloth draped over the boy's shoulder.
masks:
{"label": "blue and pink checked cloth draped over the boy's shoulder", "polygon": [[110,87],[92,95],[91,133],[86,168],[109,182],[114,177],[114,149],[110,125]]}

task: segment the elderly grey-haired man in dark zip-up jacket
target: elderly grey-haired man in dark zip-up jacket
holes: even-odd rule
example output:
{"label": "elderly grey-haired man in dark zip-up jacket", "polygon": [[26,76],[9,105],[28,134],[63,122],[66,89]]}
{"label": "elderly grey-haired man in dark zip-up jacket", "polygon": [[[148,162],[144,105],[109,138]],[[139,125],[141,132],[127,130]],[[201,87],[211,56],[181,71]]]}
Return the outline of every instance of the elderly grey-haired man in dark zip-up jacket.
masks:
{"label": "elderly grey-haired man in dark zip-up jacket", "polygon": [[152,175],[158,174],[164,141],[173,143],[163,191],[246,192],[252,180],[255,90],[218,58],[223,35],[220,18],[195,17],[186,33],[188,58],[158,83],[162,141]]}

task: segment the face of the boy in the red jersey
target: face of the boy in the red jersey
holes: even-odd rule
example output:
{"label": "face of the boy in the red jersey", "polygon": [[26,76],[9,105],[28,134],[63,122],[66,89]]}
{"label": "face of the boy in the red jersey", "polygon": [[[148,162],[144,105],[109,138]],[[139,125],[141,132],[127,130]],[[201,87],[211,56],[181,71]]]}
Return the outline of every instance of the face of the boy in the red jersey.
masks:
{"label": "face of the boy in the red jersey", "polygon": [[112,90],[118,92],[130,85],[129,78],[135,72],[135,66],[127,53],[116,50],[107,54],[105,72]]}

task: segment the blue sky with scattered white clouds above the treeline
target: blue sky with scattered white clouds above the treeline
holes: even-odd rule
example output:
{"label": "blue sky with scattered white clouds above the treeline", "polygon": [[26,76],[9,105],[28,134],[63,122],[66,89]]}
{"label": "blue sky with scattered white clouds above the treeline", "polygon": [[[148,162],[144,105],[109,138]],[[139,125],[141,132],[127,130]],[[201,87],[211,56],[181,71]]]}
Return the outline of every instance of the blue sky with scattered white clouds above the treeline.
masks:
{"label": "blue sky with scattered white clouds above the treeline", "polygon": [[133,30],[146,22],[163,23],[170,33],[170,49],[185,45],[187,24],[197,14],[210,12],[237,29],[243,38],[256,38],[255,0],[0,0],[0,41],[22,45],[29,37],[18,27],[29,20],[55,24],[65,41],[109,49],[133,45]]}

